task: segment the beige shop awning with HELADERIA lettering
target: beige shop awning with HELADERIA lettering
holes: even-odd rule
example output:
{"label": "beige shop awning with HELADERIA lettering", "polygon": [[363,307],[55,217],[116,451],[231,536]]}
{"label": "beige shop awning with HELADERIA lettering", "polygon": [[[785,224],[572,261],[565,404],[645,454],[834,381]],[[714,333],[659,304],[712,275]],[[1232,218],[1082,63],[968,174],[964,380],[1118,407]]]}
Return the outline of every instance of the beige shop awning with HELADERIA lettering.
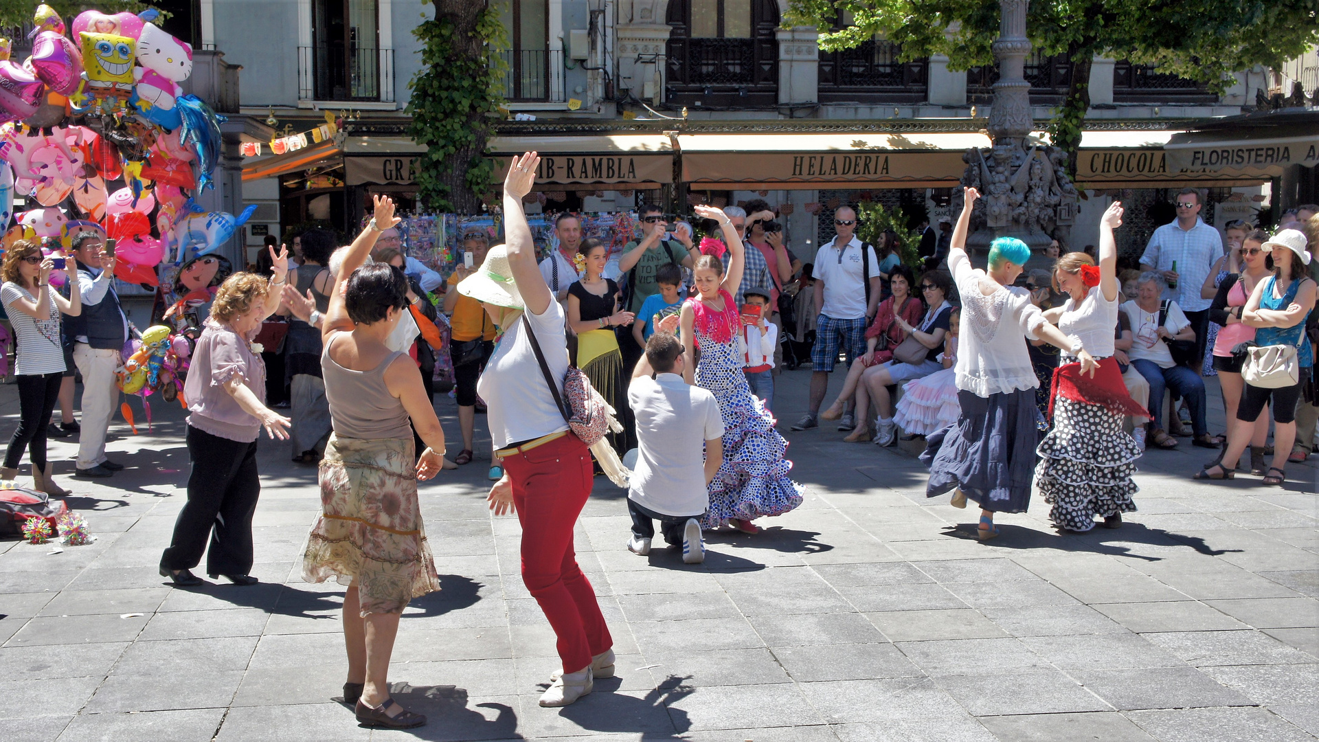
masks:
{"label": "beige shop awning with HELADERIA lettering", "polygon": [[694,189],[951,187],[983,133],[702,133],[678,137]]}

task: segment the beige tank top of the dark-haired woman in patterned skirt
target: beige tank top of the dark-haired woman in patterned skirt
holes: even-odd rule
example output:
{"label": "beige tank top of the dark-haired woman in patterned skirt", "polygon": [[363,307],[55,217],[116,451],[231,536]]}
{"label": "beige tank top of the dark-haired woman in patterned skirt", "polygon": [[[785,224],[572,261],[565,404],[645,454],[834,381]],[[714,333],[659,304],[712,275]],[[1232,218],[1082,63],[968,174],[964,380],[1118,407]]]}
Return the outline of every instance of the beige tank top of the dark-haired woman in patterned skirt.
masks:
{"label": "beige tank top of the dark-haired woman in patterned skirt", "polygon": [[371,371],[344,368],[330,358],[330,349],[342,333],[335,333],[321,353],[321,374],[330,400],[330,421],[340,438],[408,438],[412,426],[408,411],[385,387],[385,370],[402,353],[389,354]]}

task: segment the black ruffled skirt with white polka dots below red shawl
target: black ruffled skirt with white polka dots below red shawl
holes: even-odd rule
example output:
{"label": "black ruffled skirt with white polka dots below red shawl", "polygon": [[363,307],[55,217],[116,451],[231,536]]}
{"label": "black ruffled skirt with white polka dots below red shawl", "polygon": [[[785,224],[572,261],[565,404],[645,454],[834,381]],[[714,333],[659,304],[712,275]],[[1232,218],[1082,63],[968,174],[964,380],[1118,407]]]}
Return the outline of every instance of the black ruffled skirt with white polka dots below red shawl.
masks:
{"label": "black ruffled skirt with white polka dots below red shawl", "polygon": [[1095,516],[1132,512],[1132,474],[1141,454],[1122,416],[1097,404],[1054,399],[1054,429],[1039,444],[1035,481],[1049,515],[1068,531],[1089,531]]}

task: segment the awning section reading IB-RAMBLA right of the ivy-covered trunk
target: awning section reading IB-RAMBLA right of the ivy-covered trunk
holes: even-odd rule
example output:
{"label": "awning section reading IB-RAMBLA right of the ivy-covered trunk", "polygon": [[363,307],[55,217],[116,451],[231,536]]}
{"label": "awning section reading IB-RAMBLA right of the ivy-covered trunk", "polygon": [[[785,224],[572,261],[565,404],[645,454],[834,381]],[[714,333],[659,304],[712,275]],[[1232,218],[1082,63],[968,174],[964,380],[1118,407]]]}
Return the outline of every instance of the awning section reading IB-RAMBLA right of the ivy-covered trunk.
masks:
{"label": "awning section reading IB-RAMBLA right of the ivy-covered trunk", "polygon": [[501,136],[489,140],[495,178],[503,181],[513,157],[538,152],[537,187],[609,185],[654,189],[673,182],[673,147],[660,133],[598,136]]}

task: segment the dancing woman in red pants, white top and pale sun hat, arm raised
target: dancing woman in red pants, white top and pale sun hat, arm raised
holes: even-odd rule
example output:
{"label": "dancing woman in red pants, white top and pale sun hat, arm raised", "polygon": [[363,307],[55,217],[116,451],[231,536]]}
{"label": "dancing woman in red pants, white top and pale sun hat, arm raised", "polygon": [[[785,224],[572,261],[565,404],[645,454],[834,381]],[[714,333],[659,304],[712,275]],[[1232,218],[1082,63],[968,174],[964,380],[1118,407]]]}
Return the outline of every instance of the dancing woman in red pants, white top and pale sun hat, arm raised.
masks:
{"label": "dancing woman in red pants, white top and pale sun hat, arm raised", "polygon": [[504,465],[489,503],[495,515],[516,510],[522,524],[522,582],[550,619],[563,660],[541,705],[566,706],[591,692],[594,677],[613,676],[613,639],[572,552],[572,527],[591,495],[591,454],[563,421],[528,337],[536,334],[562,393],[568,371],[563,308],[536,265],[522,213],[539,161],[534,152],[513,158],[504,180],[506,243],[492,247],[458,290],[480,301],[504,330],[476,386]]}

